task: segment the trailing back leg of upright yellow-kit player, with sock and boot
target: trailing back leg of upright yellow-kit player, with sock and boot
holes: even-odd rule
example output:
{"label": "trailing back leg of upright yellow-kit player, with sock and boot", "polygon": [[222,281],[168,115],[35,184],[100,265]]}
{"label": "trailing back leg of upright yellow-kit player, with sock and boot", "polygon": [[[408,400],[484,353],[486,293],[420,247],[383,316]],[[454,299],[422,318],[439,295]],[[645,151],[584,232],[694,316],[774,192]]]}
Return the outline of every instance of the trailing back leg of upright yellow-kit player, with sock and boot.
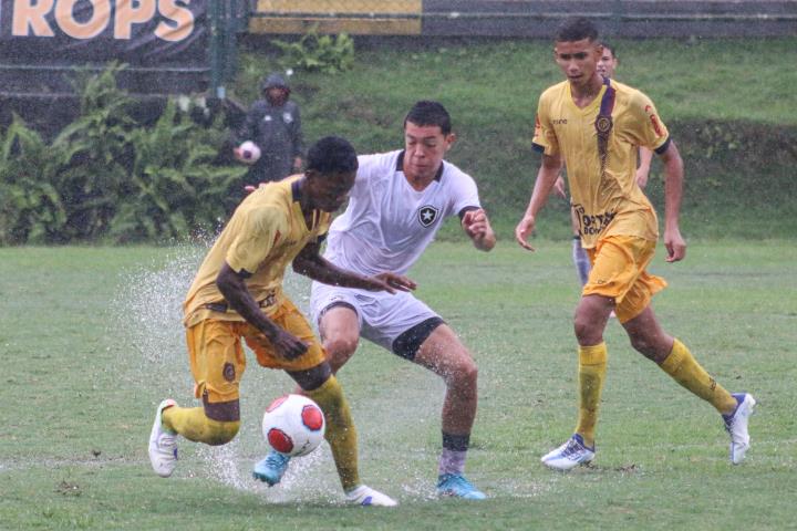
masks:
{"label": "trailing back leg of upright yellow-kit player, with sock and boot", "polygon": [[624,322],[623,327],[636,351],[655,362],[675,382],[716,408],[731,435],[731,461],[742,462],[749,448],[747,421],[755,406],[753,396],[746,393],[732,395],[720,385],[694,358],[686,345],[662,330],[650,305],[635,317]]}

